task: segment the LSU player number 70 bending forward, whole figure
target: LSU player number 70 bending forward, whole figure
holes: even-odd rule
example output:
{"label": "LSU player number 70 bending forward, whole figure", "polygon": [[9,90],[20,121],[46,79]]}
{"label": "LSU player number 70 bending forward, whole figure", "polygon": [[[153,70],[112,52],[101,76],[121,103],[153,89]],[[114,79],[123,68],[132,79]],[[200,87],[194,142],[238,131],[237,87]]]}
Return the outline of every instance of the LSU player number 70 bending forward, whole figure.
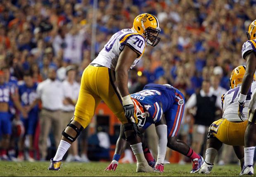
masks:
{"label": "LSU player number 70 bending forward, whole figure", "polygon": [[97,105],[103,100],[123,124],[126,140],[137,159],[136,171],[153,171],[143,154],[137,117],[132,116],[134,105],[128,91],[128,71],[139,62],[146,43],[152,46],[159,43],[160,31],[154,15],[140,14],[134,19],[133,28],[115,33],[85,68],[73,119],[62,132],[62,140],[48,170],[59,170],[64,154],[81,130],[88,126]]}

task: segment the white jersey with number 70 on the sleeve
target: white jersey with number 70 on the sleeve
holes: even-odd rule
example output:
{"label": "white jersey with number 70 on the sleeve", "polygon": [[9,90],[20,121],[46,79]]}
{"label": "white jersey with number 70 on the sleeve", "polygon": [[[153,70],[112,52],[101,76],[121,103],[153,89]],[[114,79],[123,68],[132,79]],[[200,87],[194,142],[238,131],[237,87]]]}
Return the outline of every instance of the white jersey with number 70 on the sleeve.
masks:
{"label": "white jersey with number 70 on the sleeve", "polygon": [[133,68],[139,62],[145,51],[146,40],[141,34],[132,29],[123,29],[115,33],[92,63],[115,70],[117,60],[125,45],[133,49],[139,56],[130,67]]}

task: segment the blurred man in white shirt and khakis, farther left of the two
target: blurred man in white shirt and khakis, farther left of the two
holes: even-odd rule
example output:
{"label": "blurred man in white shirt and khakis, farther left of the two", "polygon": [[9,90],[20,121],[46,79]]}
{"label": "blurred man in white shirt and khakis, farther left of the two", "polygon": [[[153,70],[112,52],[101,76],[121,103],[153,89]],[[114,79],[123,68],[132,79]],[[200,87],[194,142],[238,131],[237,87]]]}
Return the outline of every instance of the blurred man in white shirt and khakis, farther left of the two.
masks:
{"label": "blurred man in white shirt and khakis, farther left of the two", "polygon": [[38,99],[42,101],[42,111],[40,112],[40,137],[39,148],[41,160],[47,156],[47,138],[52,129],[55,145],[58,147],[59,138],[63,130],[63,120],[61,109],[63,106],[64,93],[62,83],[56,79],[56,68],[50,67],[48,70],[48,79],[38,84]]}

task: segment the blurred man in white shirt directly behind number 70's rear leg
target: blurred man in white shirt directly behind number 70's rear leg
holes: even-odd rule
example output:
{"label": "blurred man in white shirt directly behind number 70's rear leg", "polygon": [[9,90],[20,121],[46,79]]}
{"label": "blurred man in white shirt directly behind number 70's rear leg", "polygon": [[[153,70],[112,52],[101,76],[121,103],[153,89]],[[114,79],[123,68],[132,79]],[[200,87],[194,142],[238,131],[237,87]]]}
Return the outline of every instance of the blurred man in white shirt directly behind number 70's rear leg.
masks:
{"label": "blurred man in white shirt directly behind number 70's rear leg", "polygon": [[[80,90],[80,85],[76,82],[75,66],[70,65],[66,67],[66,80],[62,82],[62,85],[64,91],[64,106],[62,107],[62,130],[64,130],[74,115],[75,105],[78,100]],[[72,144],[66,161],[81,161],[81,158],[78,156],[78,141],[75,141]]]}

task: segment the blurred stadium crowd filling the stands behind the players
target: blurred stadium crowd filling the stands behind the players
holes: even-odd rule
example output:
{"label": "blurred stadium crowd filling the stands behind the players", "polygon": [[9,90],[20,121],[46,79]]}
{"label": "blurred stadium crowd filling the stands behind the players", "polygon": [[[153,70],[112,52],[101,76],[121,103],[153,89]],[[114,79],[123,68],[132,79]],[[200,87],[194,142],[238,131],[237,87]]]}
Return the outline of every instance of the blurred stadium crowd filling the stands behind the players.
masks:
{"label": "blurred stadium crowd filling the stands behind the players", "polygon": [[[229,90],[231,71],[244,63],[240,51],[255,11],[255,0],[98,0],[95,56],[111,35],[131,28],[135,16],[147,12],[159,20],[161,41],[147,46],[130,72],[131,93],[147,83],[168,83],[188,100],[211,76]],[[94,59],[92,19],[93,0],[2,0],[0,68],[9,68],[17,89],[24,73],[40,83],[49,68],[64,81],[69,65],[76,67],[79,82]]]}

